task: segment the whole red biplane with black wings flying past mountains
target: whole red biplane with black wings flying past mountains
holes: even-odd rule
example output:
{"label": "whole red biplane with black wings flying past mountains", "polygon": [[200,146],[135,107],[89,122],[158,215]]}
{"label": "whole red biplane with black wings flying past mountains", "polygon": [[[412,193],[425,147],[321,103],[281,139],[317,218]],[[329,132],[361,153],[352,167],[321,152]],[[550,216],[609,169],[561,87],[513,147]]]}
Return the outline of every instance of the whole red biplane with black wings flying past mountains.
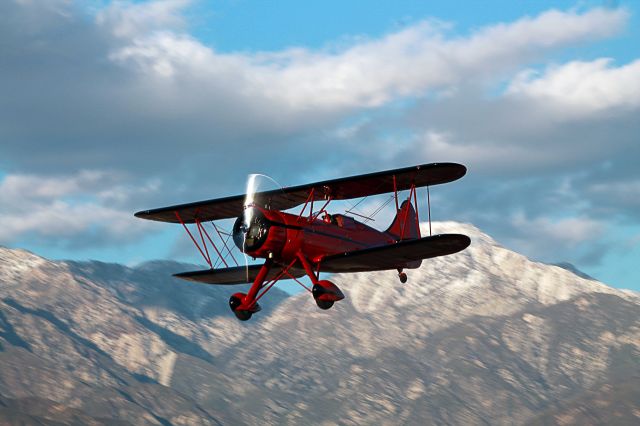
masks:
{"label": "whole red biplane with black wings flying past mountains", "polygon": [[[252,283],[247,294],[235,293],[229,299],[236,317],[246,321],[260,310],[258,300],[278,280],[296,280],[313,295],[320,309],[329,309],[334,302],[344,299],[344,295],[331,281],[321,280],[320,272],[397,270],[404,283],[407,281],[404,269],[419,267],[423,259],[464,250],[471,242],[466,235],[421,237],[416,189],[426,186],[428,196],[430,186],[460,179],[466,170],[455,163],[424,164],[258,192],[253,194],[249,204],[245,202],[245,195],[237,195],[144,210],[135,215],[182,224],[210,267],[174,276],[207,284]],[[399,205],[398,192],[405,190],[409,190],[409,195]],[[396,208],[396,216],[386,231],[378,231],[350,216],[331,215],[326,210],[334,200],[383,193],[394,194]],[[317,202],[322,206],[314,211]],[[303,207],[298,214],[283,211],[300,205]],[[309,210],[305,214],[307,207]],[[430,210],[429,205],[431,231]],[[232,237],[243,253],[254,259],[265,259],[262,265],[240,266],[233,257],[223,232],[214,221],[234,217],[237,219],[227,240]],[[211,222],[215,234],[209,234],[205,229],[206,222]],[[195,224],[197,233],[192,233],[187,224]],[[216,234],[222,242],[220,248],[211,237]],[[214,267],[209,246],[220,257],[224,268]],[[237,266],[229,267],[225,260],[229,255]],[[305,275],[313,284],[311,289],[298,280]]]}

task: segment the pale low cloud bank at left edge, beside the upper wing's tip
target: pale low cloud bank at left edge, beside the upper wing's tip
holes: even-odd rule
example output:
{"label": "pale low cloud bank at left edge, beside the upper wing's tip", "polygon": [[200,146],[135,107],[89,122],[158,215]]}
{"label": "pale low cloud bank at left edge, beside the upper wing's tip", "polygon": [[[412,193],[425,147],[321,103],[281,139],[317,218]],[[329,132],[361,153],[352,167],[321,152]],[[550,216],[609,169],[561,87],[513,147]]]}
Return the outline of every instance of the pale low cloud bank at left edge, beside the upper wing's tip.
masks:
{"label": "pale low cloud bank at left edge, beside the upper wing's tip", "polygon": [[157,186],[131,188],[118,185],[121,180],[102,171],[64,177],[5,176],[0,181],[0,243],[26,238],[60,246],[109,245],[140,237],[147,224],[122,204],[144,191],[156,191]]}

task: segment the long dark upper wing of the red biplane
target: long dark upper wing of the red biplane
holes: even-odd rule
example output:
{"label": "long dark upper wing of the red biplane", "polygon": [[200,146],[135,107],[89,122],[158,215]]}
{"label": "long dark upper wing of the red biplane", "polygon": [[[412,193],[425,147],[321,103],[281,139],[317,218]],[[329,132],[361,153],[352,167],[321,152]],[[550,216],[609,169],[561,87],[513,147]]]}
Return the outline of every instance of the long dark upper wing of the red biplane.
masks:
{"label": "long dark upper wing of the red biplane", "polygon": [[[313,191],[313,199],[347,200],[366,195],[384,194],[409,189],[412,184],[416,187],[438,185],[460,179],[467,172],[467,168],[456,163],[431,163],[384,172],[350,176],[340,179],[254,194],[255,203],[269,206],[273,210],[287,210],[304,204]],[[160,222],[194,223],[196,220],[206,222],[210,220],[237,217],[244,208],[244,195],[235,195],[214,200],[198,201],[189,204],[162,207],[153,210],[137,212],[136,217],[157,220]],[[178,219],[178,215],[180,219]]]}

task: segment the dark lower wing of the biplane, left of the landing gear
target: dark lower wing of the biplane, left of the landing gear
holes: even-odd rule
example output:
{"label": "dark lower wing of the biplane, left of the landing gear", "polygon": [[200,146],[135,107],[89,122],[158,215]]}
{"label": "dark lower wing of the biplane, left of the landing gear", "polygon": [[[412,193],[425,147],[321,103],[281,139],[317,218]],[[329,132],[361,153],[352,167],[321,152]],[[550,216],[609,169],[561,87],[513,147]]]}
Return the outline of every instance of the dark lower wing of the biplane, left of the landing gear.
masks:
{"label": "dark lower wing of the biplane, left of the landing gear", "polygon": [[[201,271],[181,272],[174,274],[174,277],[182,278],[183,280],[195,281],[205,284],[218,284],[218,285],[234,285],[234,284],[247,284],[252,283],[258,272],[262,268],[262,265],[249,265],[248,267],[236,266],[233,268],[222,269],[203,269]],[[248,271],[248,275],[247,275]],[[276,277],[282,271],[281,268],[273,267],[267,274],[266,281],[269,281]],[[296,278],[303,277],[305,272],[303,269],[290,268],[289,273]],[[285,274],[282,276],[282,280],[291,278]]]}

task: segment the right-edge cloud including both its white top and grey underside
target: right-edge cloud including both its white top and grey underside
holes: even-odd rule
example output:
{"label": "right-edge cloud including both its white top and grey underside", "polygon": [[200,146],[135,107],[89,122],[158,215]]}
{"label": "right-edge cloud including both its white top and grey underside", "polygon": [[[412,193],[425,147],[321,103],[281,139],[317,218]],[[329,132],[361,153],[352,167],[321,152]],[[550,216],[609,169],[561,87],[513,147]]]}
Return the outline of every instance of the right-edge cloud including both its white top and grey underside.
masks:
{"label": "right-edge cloud including both its white top and grey underside", "polygon": [[[421,103],[409,121],[412,143],[398,156],[419,152],[467,163],[482,176],[515,178],[584,175],[609,163],[599,179],[636,179],[638,112],[640,60],[569,62],[537,77],[521,73],[490,98],[465,90]],[[602,193],[580,191],[589,199]]]}

